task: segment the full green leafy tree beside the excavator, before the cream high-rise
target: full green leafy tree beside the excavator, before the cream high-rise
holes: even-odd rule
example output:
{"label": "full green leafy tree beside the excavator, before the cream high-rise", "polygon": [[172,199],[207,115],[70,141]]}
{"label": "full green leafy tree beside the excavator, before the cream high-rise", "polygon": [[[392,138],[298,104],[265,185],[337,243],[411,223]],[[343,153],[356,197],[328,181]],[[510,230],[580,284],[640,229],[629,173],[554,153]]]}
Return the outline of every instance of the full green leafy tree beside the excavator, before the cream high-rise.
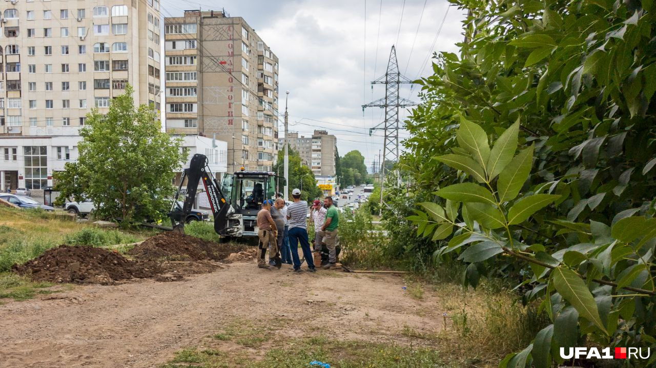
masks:
{"label": "full green leafy tree beside the excavator, before the cream high-rise", "polygon": [[180,140],[161,132],[152,107],[134,106],[133,88],[113,98],[107,115],[87,114],[80,129],[79,159],[55,173],[59,203],[88,198],[101,218],[161,218],[170,205],[171,182],[182,164]]}

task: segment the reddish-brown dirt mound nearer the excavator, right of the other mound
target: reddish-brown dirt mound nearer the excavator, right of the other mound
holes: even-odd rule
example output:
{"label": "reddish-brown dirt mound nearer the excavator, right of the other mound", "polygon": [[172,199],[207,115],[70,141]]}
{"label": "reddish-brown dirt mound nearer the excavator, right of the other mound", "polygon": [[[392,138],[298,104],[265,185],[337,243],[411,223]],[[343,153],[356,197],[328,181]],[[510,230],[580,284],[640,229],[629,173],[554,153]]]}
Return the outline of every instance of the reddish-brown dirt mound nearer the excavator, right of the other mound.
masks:
{"label": "reddish-brown dirt mound nearer the excavator, right of the other mound", "polygon": [[222,260],[239,250],[238,245],[218,244],[191,235],[166,232],[136,245],[128,254],[138,260],[195,261]]}

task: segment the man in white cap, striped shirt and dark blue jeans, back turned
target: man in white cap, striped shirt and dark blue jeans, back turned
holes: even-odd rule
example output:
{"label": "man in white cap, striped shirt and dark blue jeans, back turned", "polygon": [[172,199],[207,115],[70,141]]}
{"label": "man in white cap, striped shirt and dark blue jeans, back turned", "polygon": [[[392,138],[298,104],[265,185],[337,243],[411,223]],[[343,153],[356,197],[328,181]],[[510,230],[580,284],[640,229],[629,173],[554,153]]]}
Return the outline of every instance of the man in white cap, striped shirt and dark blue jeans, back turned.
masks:
{"label": "man in white cap, striped shirt and dark blue jeans, back turned", "polygon": [[300,200],[300,190],[296,188],[291,192],[294,203],[287,206],[287,218],[289,219],[289,248],[294,264],[294,272],[300,272],[300,259],[298,258],[298,243],[303,251],[303,256],[308,262],[310,272],[315,272],[314,258],[308,241],[308,203]]}

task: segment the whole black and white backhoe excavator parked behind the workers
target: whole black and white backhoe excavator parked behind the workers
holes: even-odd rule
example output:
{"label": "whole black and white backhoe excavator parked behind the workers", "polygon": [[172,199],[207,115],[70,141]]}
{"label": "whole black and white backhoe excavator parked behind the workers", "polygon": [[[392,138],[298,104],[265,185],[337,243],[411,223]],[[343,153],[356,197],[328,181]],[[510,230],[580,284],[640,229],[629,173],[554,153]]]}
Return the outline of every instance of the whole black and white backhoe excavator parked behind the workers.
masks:
{"label": "whole black and white backhoe excavator parked behind the workers", "polygon": [[[242,167],[234,174],[224,174],[219,185],[208,163],[207,156],[196,153],[189,167],[184,169],[169,212],[173,231],[184,234],[184,219],[194,208],[198,184],[202,181],[214,215],[214,231],[221,240],[257,236],[256,218],[262,202],[264,199],[276,199],[276,180],[284,182],[284,178],[267,171],[244,171]],[[187,188],[182,211],[173,211],[185,178]]]}

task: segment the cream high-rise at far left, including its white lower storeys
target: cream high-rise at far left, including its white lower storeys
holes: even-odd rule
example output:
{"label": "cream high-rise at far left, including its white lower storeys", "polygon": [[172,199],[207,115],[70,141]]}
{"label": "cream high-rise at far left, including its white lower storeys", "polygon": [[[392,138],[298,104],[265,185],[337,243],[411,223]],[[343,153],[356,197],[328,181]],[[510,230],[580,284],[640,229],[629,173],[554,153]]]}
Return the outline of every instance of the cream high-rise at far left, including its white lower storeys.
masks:
{"label": "cream high-rise at far left, including its white lower storeys", "polygon": [[91,108],[134,88],[159,109],[157,0],[3,1],[0,189],[39,190],[77,158]]}

